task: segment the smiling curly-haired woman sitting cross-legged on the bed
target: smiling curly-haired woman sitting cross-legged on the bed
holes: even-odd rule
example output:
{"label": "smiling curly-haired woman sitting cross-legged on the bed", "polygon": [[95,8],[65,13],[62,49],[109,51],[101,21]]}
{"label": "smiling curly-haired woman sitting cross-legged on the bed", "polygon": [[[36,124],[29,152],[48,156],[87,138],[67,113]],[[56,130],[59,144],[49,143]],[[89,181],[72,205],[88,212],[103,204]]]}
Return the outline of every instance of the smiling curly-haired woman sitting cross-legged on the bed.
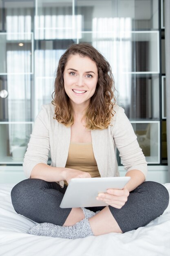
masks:
{"label": "smiling curly-haired woman sitting cross-legged on the bed", "polygon": [[[168,206],[166,188],[145,182],[145,157],[114,90],[109,63],[90,44],[71,45],[60,58],[52,104],[42,106],[24,157],[29,179],[11,191],[15,211],[39,223],[29,234],[75,239],[124,233]],[[107,207],[60,208],[72,178],[119,176],[115,146],[131,177],[124,189],[98,195]]]}

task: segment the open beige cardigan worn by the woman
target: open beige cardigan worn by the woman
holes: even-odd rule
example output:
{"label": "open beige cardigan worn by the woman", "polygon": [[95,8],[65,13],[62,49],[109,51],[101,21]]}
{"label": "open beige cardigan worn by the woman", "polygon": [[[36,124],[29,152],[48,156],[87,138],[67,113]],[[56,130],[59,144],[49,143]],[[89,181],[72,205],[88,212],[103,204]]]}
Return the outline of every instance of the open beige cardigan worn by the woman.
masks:
{"label": "open beige cardigan worn by the woman", "polygon": [[[137,137],[124,113],[115,106],[116,111],[111,124],[104,130],[92,130],[92,145],[101,177],[119,176],[116,147],[119,150],[125,170],[140,170],[146,177],[147,163],[137,142]],[[49,150],[51,166],[65,167],[71,139],[71,128],[53,119],[54,106],[43,105],[35,119],[33,131],[24,157],[24,173],[27,178],[36,164],[47,164]],[[64,182],[61,181],[63,186]]]}

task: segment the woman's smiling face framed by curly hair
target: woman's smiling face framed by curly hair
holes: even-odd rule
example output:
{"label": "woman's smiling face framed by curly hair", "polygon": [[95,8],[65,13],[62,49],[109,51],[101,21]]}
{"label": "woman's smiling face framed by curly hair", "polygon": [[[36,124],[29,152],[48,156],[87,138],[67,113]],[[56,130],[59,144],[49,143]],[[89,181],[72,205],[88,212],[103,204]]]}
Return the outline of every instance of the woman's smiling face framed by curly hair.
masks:
{"label": "woman's smiling face framed by curly hair", "polygon": [[87,56],[79,54],[68,58],[64,69],[64,89],[73,106],[87,107],[96,90],[97,66]]}

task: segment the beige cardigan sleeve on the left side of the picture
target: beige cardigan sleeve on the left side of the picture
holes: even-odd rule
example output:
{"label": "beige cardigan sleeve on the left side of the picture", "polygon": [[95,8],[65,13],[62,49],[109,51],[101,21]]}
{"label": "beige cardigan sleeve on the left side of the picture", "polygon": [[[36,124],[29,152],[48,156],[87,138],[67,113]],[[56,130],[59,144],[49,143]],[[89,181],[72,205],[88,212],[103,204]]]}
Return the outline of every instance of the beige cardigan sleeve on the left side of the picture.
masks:
{"label": "beige cardigan sleeve on the left side of the picture", "polygon": [[23,169],[27,178],[30,177],[31,171],[36,164],[47,164],[49,150],[49,115],[45,106],[42,106],[35,119],[33,131],[24,156]]}

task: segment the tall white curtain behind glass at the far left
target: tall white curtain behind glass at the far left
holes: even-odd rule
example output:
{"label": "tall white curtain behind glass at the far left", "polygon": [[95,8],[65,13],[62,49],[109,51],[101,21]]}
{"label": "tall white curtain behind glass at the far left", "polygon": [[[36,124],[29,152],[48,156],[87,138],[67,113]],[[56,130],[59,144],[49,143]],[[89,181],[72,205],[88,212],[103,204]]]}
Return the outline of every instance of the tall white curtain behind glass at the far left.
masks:
{"label": "tall white curtain behind glass at the far left", "polygon": [[[7,8],[6,43],[9,150],[13,160],[22,161],[31,125],[13,121],[31,118],[31,8]],[[23,43],[20,49],[19,43]]]}

